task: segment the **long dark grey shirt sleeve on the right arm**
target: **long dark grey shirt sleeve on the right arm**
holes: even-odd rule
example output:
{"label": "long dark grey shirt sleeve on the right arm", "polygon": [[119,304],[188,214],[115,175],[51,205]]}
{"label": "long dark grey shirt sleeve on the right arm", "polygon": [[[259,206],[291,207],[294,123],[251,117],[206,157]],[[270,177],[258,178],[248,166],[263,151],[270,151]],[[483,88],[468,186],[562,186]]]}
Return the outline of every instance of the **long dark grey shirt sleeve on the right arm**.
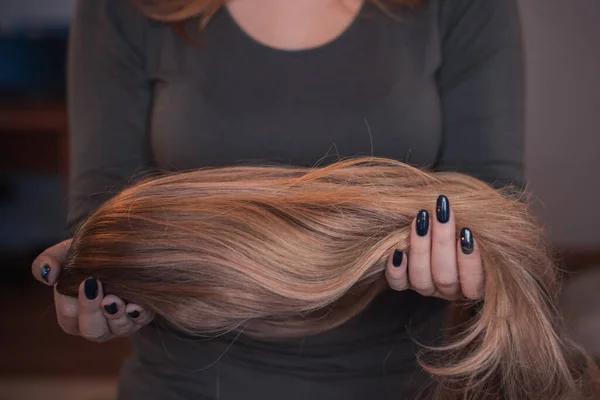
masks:
{"label": "long dark grey shirt sleeve on the right arm", "polygon": [[523,183],[524,61],[517,0],[444,0],[437,168]]}

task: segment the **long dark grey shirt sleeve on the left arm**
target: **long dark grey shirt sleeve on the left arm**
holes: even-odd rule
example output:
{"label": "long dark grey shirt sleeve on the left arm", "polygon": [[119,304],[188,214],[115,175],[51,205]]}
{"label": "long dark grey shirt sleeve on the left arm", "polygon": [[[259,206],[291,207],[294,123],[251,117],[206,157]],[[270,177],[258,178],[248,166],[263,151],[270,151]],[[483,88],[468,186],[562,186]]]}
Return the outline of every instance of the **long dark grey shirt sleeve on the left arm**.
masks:
{"label": "long dark grey shirt sleeve on the left arm", "polygon": [[152,168],[144,17],[126,0],[79,0],[68,63],[69,215],[76,226]]}

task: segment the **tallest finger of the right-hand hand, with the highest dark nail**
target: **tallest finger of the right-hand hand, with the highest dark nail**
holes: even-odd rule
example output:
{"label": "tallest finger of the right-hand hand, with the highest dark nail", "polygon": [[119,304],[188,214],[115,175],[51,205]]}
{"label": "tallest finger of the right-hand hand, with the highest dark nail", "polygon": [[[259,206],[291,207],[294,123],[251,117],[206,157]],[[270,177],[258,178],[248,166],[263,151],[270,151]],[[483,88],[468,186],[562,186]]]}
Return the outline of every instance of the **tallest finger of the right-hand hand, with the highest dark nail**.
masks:
{"label": "tallest finger of the right-hand hand, with the highest dark nail", "polygon": [[431,232],[431,274],[437,291],[446,299],[460,296],[455,224],[448,198],[438,197]]}

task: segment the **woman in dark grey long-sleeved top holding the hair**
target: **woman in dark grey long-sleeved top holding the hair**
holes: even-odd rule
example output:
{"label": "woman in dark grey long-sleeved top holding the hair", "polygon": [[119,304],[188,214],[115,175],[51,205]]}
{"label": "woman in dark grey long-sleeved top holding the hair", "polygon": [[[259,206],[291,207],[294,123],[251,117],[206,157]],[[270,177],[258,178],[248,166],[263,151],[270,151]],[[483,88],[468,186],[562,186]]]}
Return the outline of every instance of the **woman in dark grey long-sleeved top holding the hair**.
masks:
{"label": "woman in dark grey long-sleeved top holding the hair", "polygon": [[[186,2],[194,15],[175,25],[157,20],[173,17],[160,9],[168,3],[154,3],[158,10],[79,1],[69,70],[71,232],[159,170],[372,154],[494,185],[521,181],[516,0],[232,0],[201,31],[196,5],[208,2]],[[462,227],[452,199],[440,195],[415,216],[410,254],[390,255],[392,290],[322,335],[185,337],[148,324],[152,315],[105,295],[93,277],[78,299],[55,294],[58,321],[94,341],[131,335],[121,399],[412,399],[424,382],[414,338],[435,343],[447,300],[483,295],[476,242],[457,243]],[[59,279],[69,244],[34,262],[40,281]]]}

